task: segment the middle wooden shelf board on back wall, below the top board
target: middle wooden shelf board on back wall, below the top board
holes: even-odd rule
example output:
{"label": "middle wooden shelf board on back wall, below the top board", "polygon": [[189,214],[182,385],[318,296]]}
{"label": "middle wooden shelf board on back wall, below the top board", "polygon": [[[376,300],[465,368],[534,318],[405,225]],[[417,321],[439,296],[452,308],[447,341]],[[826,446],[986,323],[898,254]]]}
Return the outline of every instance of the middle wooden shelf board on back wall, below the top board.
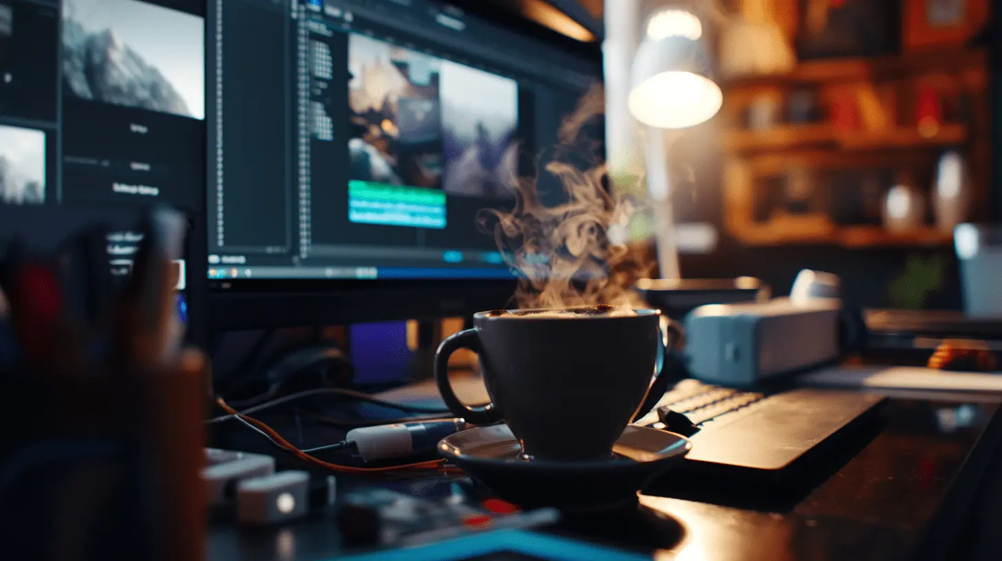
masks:
{"label": "middle wooden shelf board on back wall, below the top board", "polygon": [[881,132],[841,134],[828,124],[782,125],[767,130],[728,130],[723,133],[727,152],[803,150],[832,146],[845,151],[907,150],[943,147],[967,140],[967,127],[945,124],[933,135],[899,127]]}

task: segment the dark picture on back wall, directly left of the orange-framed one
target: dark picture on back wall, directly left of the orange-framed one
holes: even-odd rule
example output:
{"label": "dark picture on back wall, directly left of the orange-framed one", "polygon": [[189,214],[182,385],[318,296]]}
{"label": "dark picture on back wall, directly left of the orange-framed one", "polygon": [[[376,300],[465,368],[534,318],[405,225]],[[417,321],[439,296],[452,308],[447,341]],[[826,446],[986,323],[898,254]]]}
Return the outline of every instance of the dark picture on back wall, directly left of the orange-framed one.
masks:
{"label": "dark picture on back wall, directly left of the orange-framed one", "polygon": [[894,53],[900,30],[897,8],[897,2],[883,0],[800,0],[798,56],[811,60]]}

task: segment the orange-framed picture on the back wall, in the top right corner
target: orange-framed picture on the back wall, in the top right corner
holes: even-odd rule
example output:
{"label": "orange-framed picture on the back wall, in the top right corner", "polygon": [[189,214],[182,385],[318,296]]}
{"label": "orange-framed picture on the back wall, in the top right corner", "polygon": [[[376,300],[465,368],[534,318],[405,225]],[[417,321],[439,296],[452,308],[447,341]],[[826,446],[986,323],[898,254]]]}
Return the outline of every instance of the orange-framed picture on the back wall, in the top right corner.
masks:
{"label": "orange-framed picture on the back wall, in the top right corner", "polygon": [[906,51],[961,47],[987,23],[989,0],[903,0]]}

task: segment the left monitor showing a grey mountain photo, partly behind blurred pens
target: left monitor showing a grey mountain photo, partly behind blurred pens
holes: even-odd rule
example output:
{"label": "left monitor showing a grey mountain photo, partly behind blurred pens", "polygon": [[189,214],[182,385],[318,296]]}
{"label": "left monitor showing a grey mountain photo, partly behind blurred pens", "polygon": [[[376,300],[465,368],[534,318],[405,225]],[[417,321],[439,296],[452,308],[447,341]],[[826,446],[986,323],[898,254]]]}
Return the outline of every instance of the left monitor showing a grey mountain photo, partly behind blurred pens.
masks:
{"label": "left monitor showing a grey mountain photo, partly behind blurred pens", "polygon": [[190,220],[177,312],[202,341],[204,0],[0,0],[0,252],[103,223],[127,273],[140,210]]}

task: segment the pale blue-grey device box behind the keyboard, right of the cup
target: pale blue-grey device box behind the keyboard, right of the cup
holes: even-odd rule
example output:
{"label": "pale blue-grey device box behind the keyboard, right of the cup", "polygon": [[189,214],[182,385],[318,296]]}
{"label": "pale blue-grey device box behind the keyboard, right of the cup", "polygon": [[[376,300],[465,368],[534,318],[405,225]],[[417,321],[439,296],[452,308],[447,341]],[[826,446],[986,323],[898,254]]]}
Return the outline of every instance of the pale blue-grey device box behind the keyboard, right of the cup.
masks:
{"label": "pale blue-grey device box behind the keyboard, right of the cup", "polygon": [[702,306],[685,318],[685,359],[693,378],[750,387],[837,359],[841,301]]}

